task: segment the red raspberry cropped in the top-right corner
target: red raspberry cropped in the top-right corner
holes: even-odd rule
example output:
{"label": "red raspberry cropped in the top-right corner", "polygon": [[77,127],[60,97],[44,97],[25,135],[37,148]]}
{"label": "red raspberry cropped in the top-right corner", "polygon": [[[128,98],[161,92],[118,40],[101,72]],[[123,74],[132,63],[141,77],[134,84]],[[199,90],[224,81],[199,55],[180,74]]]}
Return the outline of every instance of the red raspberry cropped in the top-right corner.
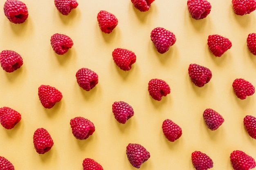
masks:
{"label": "red raspberry cropped in the top-right corner", "polygon": [[232,0],[236,15],[249,14],[256,9],[256,0]]}

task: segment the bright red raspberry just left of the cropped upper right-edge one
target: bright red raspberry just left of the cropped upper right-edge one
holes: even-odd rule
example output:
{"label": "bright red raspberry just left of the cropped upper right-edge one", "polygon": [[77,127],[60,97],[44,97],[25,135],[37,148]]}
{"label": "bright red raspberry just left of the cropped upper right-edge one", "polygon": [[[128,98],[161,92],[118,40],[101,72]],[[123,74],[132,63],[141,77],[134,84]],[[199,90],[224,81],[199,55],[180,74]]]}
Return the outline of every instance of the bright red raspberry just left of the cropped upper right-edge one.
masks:
{"label": "bright red raspberry just left of the cropped upper right-edge one", "polygon": [[216,57],[220,57],[232,46],[231,41],[221,35],[209,35],[207,41],[209,49]]}

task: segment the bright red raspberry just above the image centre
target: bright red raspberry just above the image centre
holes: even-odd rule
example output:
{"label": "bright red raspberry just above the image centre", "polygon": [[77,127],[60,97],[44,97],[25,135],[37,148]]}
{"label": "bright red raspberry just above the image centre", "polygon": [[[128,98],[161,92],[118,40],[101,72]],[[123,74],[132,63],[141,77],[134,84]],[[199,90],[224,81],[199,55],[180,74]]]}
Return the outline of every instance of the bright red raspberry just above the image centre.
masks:
{"label": "bright red raspberry just above the image centre", "polygon": [[112,57],[115,64],[124,71],[130,70],[132,68],[132,64],[136,62],[135,53],[127,49],[115,49],[112,52]]}

